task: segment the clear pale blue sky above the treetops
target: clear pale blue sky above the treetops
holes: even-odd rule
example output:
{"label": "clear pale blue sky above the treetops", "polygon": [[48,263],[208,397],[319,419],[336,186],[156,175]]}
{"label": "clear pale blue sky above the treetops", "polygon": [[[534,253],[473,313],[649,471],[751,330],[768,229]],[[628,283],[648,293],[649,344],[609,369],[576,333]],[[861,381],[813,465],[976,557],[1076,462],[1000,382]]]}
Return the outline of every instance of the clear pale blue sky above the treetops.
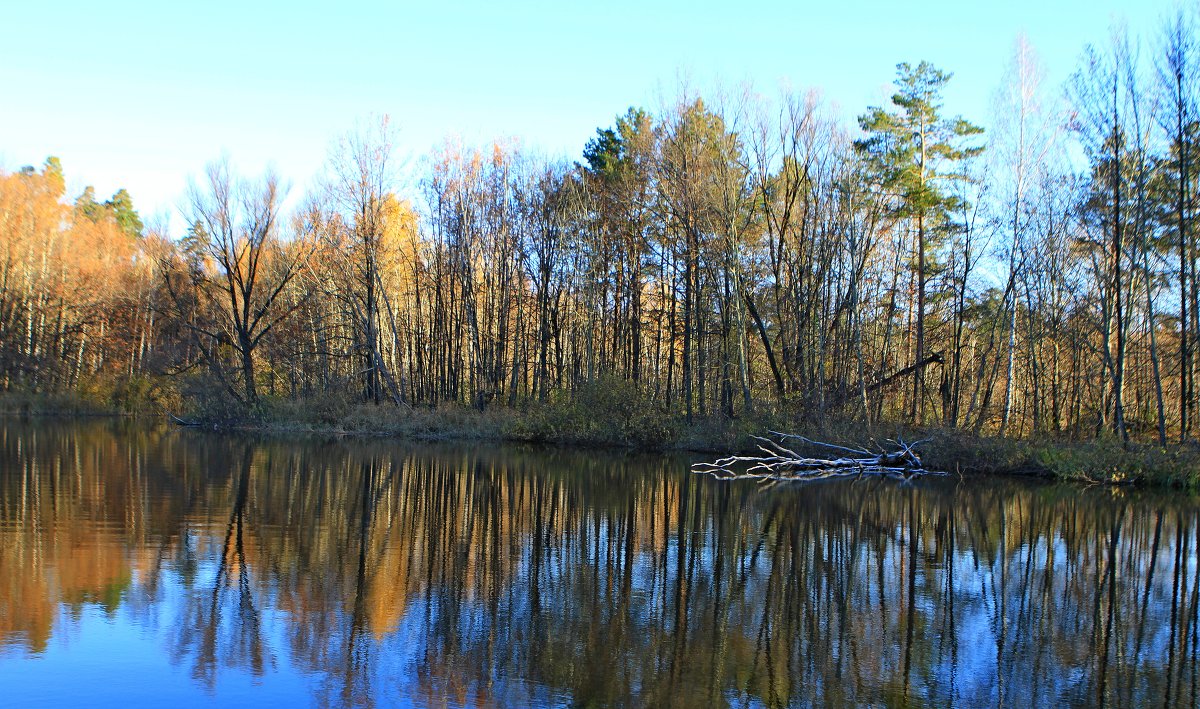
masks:
{"label": "clear pale blue sky above the treetops", "polygon": [[[1189,0],[1195,1],[1195,0]],[[631,104],[685,76],[817,88],[847,122],[887,101],[895,65],[954,73],[946,108],[986,126],[1024,32],[1060,85],[1115,22],[1153,40],[1172,0],[815,4],[11,0],[0,10],[0,167],[62,160],[72,196],[126,187],[144,218],[228,155],[304,191],[330,143],[389,114],[400,151],[448,136],[576,157]],[[174,220],[173,220],[174,221]]]}

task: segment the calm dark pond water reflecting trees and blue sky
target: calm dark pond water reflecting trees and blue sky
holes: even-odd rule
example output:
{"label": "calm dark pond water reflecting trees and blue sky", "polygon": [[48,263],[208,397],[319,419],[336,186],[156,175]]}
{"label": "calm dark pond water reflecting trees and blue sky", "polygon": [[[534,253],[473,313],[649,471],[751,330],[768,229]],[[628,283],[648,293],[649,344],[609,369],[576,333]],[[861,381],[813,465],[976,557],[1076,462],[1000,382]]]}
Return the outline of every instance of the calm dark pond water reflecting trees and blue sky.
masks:
{"label": "calm dark pond water reflecting trees and blue sky", "polygon": [[1193,499],[0,421],[0,704],[1195,705]]}

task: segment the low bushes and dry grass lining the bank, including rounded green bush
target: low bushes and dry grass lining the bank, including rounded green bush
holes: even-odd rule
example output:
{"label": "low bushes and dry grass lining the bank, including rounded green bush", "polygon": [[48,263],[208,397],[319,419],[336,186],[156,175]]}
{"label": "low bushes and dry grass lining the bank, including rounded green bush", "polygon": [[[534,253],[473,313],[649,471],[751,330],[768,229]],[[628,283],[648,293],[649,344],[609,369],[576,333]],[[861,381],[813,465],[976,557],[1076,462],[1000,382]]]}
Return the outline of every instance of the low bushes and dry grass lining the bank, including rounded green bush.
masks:
{"label": "low bushes and dry grass lining the bank, including rounded green bush", "polygon": [[[504,440],[553,445],[685,450],[710,455],[757,450],[755,437],[770,431],[804,435],[814,441],[884,451],[896,441],[917,443],[925,468],[950,474],[1028,475],[1104,485],[1146,485],[1200,492],[1200,444],[1168,446],[1123,444],[1112,435],[1074,440],[1051,434],[1031,438],[982,435],[964,429],[899,423],[871,423],[811,417],[762,407],[736,419],[670,414],[636,386],[601,378],[571,396],[515,407],[491,403],[408,407],[365,404],[337,397],[264,397],[251,413],[234,413],[208,401],[185,403],[178,395],[157,396],[142,386],[140,399],[78,395],[0,396],[0,414],[25,416],[140,415],[167,417],[181,425],[272,434],[364,435],[414,440]],[[125,398],[120,398],[125,397]],[[178,407],[178,408],[176,408]],[[174,409],[174,410],[172,410]],[[179,411],[178,414],[175,411]],[[793,441],[802,455],[828,455],[820,445]]]}

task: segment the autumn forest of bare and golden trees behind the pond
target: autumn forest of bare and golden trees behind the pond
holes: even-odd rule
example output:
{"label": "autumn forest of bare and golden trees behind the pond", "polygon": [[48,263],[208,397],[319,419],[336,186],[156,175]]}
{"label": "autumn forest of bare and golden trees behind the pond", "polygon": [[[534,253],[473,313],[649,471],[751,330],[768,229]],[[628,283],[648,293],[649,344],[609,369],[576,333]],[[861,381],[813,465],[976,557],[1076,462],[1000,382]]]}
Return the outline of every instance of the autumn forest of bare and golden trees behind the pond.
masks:
{"label": "autumn forest of bare and golden trees behind the pond", "polygon": [[52,157],[0,173],[0,391],[1188,441],[1198,60],[1183,11],[1064,86],[1019,41],[986,132],[929,62],[854,125],[817,91],[680,89],[577,160],[446,140],[402,170],[377,119],[301,196],[208,166],[175,234]]}

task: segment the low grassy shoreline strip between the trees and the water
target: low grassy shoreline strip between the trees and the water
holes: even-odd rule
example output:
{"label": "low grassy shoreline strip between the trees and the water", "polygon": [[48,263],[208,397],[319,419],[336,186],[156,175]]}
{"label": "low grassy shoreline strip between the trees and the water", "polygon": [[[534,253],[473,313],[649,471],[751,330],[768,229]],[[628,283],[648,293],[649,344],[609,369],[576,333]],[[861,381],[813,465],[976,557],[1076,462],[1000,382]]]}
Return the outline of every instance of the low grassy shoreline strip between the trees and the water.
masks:
{"label": "low grassy shoreline strip between the trees and the water", "polygon": [[[0,416],[20,419],[122,419],[160,421],[164,426],[216,432],[328,438],[396,439],[422,443],[480,441],[540,444],[559,447],[688,452],[725,456],[752,451],[752,437],[786,431],[824,443],[870,450],[886,441],[920,440],[925,467],[962,476],[1001,475],[1044,477],[1085,485],[1139,486],[1200,492],[1200,446],[1194,443],[1162,447],[1147,443],[1128,446],[1111,438],[1072,440],[977,435],[942,427],[899,423],[833,422],[805,425],[785,416],[752,419],[710,416],[688,423],[682,416],[630,411],[587,410],[538,404],[479,411],[463,405],[397,408],[361,404],[329,415],[307,410],[299,402],[272,407],[258,416],[179,419],[161,413],[104,410],[83,402],[14,408],[0,402]],[[43,402],[48,403],[48,402]],[[800,445],[802,453],[806,447]],[[814,447],[811,455],[820,449]]]}

